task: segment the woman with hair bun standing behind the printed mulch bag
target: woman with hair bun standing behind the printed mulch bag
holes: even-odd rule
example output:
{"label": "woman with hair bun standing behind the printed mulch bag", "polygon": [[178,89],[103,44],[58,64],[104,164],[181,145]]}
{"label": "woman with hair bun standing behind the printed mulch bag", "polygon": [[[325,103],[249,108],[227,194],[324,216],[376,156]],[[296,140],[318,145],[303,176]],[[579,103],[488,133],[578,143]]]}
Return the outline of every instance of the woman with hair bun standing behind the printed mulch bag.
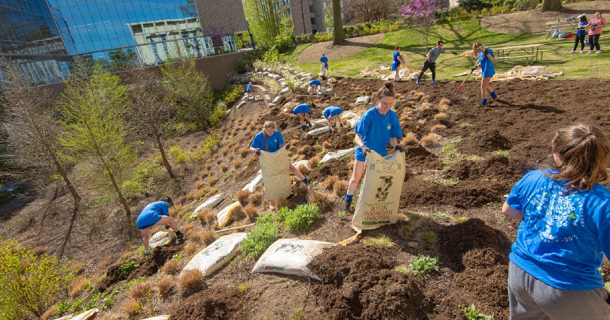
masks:
{"label": "woman with hair bun standing behind the printed mulch bag", "polygon": [[356,132],[354,141],[357,144],[354,152],[354,169],[348,184],[343,212],[350,212],[352,197],[364,174],[364,162],[367,160],[368,151],[373,150],[385,157],[387,144],[390,143],[395,150],[403,152],[403,148],[398,145],[397,140],[397,138],[403,137],[403,130],[400,129],[398,116],[393,110],[390,110],[394,104],[395,95],[392,82],[386,82],[377,91],[377,105],[363,113],[354,128],[354,132]]}

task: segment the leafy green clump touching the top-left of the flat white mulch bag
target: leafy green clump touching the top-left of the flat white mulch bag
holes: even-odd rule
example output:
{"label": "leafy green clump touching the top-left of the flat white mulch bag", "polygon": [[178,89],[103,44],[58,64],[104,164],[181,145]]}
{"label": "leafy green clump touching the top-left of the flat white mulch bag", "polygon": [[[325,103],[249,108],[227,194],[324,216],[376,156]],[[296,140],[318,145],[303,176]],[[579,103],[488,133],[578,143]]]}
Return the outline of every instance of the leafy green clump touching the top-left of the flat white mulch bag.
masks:
{"label": "leafy green clump touching the top-left of the flat white mulch bag", "polygon": [[246,257],[255,259],[278,238],[278,222],[275,221],[273,213],[265,213],[265,215],[256,218],[256,227],[243,241],[242,252]]}

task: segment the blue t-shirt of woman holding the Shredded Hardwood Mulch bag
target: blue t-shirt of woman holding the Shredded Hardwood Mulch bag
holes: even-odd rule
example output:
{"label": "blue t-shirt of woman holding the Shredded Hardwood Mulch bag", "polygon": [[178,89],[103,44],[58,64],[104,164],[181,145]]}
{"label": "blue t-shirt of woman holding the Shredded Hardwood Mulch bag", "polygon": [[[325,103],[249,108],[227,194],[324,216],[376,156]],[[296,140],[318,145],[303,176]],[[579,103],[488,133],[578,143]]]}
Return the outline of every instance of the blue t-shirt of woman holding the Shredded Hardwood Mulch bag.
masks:
{"label": "blue t-shirt of woman holding the Shredded Hardwood Mulch bag", "polygon": [[[383,157],[387,155],[386,147],[390,138],[403,137],[403,130],[400,129],[396,113],[388,110],[386,115],[381,115],[377,111],[377,107],[372,107],[362,114],[354,132],[362,137],[365,146]],[[356,160],[365,160],[359,146],[356,146]]]}

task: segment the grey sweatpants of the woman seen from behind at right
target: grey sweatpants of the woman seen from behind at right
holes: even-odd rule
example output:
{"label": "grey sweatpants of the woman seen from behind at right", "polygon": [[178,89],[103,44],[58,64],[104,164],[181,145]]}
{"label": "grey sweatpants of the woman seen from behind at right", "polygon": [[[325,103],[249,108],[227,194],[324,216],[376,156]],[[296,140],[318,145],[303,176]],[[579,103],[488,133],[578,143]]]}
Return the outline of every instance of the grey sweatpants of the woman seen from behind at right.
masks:
{"label": "grey sweatpants of the woman seen from behind at right", "polygon": [[511,320],[608,320],[610,294],[595,290],[562,290],[534,278],[512,263],[508,268]]}

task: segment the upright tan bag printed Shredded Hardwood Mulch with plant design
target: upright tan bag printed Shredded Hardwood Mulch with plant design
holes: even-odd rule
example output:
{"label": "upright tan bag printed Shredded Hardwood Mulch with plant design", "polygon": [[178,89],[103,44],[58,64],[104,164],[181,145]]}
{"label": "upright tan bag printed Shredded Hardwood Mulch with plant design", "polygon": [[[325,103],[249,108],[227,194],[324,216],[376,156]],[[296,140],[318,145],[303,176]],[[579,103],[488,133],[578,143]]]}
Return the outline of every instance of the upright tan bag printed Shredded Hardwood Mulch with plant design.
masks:
{"label": "upright tan bag printed Shredded Hardwood Mulch with plant design", "polygon": [[370,151],[351,227],[357,232],[396,223],[404,180],[404,152],[381,157]]}

